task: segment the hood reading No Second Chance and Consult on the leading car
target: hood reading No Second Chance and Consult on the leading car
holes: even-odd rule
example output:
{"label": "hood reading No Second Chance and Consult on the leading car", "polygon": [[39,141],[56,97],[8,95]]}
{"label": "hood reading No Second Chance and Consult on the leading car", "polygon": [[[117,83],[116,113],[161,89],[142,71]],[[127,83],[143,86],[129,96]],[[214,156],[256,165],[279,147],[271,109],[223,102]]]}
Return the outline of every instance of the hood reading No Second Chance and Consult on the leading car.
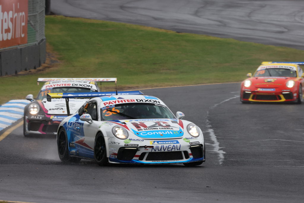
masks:
{"label": "hood reading No Second Chance and Consult on the leading car", "polygon": [[179,119],[134,119],[112,121],[122,125],[134,135],[147,139],[181,138],[184,124]]}

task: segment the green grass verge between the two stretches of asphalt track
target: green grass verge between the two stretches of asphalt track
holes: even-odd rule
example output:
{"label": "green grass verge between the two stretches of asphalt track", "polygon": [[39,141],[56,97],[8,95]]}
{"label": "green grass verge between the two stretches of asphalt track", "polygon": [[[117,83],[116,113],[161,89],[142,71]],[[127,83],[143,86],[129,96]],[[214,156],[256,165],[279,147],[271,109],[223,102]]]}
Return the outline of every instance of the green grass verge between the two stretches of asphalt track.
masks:
{"label": "green grass verge between the two stretches of asphalt track", "polygon": [[117,77],[118,88],[240,82],[261,61],[301,61],[304,51],[100,20],[46,16],[54,70],[0,79],[0,104],[34,96],[38,77]]}

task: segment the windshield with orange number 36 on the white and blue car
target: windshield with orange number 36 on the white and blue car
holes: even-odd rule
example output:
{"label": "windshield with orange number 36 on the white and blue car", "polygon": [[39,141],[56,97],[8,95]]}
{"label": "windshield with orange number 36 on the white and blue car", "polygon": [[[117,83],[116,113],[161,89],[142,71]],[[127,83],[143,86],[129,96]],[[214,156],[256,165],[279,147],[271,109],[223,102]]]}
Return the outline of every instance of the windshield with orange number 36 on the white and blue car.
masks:
{"label": "windshield with orange number 36 on the white and blue car", "polygon": [[124,103],[102,107],[103,120],[175,118],[168,107],[153,103]]}

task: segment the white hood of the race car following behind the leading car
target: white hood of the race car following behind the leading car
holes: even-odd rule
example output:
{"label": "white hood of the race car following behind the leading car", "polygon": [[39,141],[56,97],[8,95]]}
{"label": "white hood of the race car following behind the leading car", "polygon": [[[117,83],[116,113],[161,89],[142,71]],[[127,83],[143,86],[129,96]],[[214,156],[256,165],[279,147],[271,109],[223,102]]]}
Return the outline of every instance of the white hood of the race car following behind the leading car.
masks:
{"label": "white hood of the race car following behind the leading car", "polygon": [[[84,104],[88,99],[70,99],[69,107],[70,114],[74,114],[82,104]],[[48,102],[47,99],[37,100],[40,106],[43,108],[43,112],[46,114],[53,115],[66,115],[67,106],[64,99],[52,99]]]}

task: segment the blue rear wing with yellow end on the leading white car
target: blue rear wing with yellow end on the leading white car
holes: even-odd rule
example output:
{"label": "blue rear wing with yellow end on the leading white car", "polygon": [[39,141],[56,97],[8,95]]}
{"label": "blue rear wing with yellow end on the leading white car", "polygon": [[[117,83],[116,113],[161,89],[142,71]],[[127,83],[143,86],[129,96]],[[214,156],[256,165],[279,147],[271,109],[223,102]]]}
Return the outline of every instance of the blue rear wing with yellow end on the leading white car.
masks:
{"label": "blue rear wing with yellow end on the leading white car", "polygon": [[47,101],[51,101],[52,98],[65,98],[67,105],[67,116],[70,115],[69,98],[93,98],[98,96],[109,96],[109,95],[143,95],[140,91],[119,91],[119,92],[83,92],[83,93],[47,93]]}

